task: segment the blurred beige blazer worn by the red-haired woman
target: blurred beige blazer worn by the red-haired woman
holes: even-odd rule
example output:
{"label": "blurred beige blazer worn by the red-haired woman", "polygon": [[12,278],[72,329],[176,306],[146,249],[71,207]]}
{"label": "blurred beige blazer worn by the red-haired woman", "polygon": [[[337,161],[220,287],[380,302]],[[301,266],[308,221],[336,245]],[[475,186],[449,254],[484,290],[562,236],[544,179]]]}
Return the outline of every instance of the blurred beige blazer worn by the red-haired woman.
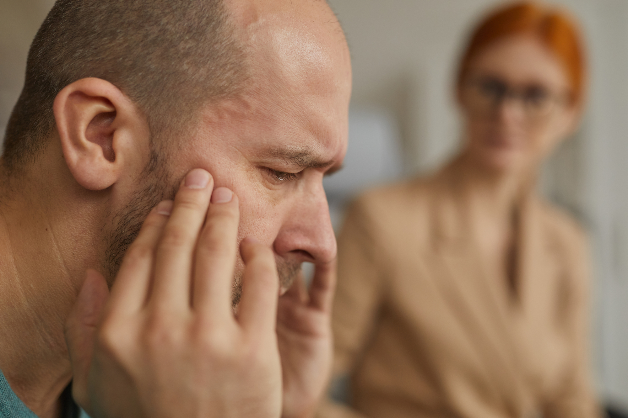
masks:
{"label": "blurred beige blazer worn by the red-haired woman", "polygon": [[[482,264],[446,169],[367,193],[339,238],[335,375],[319,417],[597,417],[588,251],[565,213],[520,208],[517,290]],[[467,211],[468,212],[468,211]]]}

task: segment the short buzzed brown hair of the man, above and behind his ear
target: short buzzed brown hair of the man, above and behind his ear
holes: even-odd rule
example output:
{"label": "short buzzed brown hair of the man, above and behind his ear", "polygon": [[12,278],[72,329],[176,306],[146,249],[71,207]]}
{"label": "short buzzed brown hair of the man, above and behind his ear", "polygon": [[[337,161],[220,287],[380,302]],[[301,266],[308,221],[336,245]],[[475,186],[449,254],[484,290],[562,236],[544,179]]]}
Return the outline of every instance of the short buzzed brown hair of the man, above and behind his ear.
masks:
{"label": "short buzzed brown hair of the man, above and behind his ear", "polygon": [[246,57],[224,0],[57,0],[28,54],[4,139],[7,168],[36,158],[55,128],[58,92],[86,77],[120,88],[154,137],[200,104],[237,94]]}

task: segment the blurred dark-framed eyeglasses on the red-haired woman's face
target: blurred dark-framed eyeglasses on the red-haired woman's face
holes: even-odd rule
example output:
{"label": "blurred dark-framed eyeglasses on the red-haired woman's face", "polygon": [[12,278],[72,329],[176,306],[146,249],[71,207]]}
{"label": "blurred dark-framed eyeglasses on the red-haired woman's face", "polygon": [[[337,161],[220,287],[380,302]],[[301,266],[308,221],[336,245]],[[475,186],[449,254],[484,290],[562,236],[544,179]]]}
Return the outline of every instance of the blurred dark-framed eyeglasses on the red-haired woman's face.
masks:
{"label": "blurred dark-framed eyeglasses on the red-haired woman's face", "polygon": [[493,114],[507,100],[521,105],[529,121],[548,117],[556,107],[565,105],[569,94],[556,94],[540,84],[512,87],[496,77],[472,78],[465,84],[466,103],[476,114]]}

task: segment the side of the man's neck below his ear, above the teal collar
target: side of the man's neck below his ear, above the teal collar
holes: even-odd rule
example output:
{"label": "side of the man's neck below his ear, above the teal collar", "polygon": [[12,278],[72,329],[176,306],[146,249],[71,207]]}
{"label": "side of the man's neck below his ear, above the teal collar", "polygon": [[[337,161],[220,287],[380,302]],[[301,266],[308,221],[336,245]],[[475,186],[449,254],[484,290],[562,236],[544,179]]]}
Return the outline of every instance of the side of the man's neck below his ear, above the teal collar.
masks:
{"label": "side of the man's neck below his ear, above the teal collar", "polygon": [[[4,174],[4,173],[0,173]],[[58,414],[72,378],[63,324],[77,294],[62,231],[28,193],[0,188],[0,370],[40,417]]]}

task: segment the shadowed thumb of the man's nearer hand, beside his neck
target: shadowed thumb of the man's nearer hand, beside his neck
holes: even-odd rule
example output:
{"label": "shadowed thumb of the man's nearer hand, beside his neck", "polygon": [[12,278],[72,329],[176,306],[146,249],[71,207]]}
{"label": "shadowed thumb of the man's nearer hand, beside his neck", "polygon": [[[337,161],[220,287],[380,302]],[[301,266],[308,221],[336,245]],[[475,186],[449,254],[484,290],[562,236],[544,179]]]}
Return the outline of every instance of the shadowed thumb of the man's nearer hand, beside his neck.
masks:
{"label": "shadowed thumb of the man's nearer hand, beside his neck", "polygon": [[100,313],[109,297],[109,287],[99,272],[89,269],[78,292],[70,315],[65,321],[65,342],[72,363],[72,395],[77,404],[89,410],[87,378],[92,363],[96,328]]}

